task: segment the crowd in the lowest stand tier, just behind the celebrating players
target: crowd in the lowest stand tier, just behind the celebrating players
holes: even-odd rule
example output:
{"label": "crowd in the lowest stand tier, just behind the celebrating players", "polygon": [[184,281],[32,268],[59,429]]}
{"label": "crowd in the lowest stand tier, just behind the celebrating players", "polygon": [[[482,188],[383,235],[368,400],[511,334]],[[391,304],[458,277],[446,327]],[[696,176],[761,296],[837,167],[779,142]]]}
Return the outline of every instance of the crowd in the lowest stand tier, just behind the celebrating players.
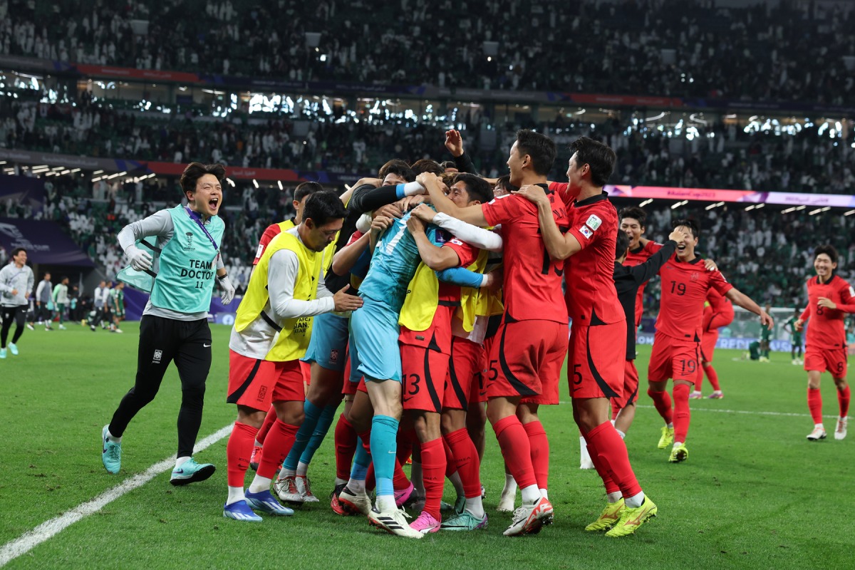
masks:
{"label": "crowd in the lowest stand tier, just behind the celebrating players", "polygon": [[[158,203],[174,204],[177,190],[156,179],[133,183],[99,181],[94,184],[72,176],[51,177],[46,182],[48,200],[44,211],[0,202],[0,217],[32,217],[55,220],[67,228],[99,266],[107,279],[126,265],[115,234],[133,220],[152,213]],[[136,188],[141,187],[141,197]],[[246,244],[256,244],[270,223],[287,220],[293,215],[291,191],[274,188],[256,189],[241,181],[224,191],[226,203],[236,207],[221,212],[229,228],[222,250],[234,276],[239,294],[245,290],[255,251]],[[618,203],[620,206],[620,203]],[[855,275],[855,216],[823,212],[810,215],[809,210],[781,214],[779,209],[754,209],[728,204],[706,210],[704,205],[690,203],[671,209],[666,203],[646,206],[646,237],[664,241],[672,219],[691,217],[699,220],[699,250],[715,259],[722,272],[740,291],[773,303],[775,306],[803,302],[805,276],[811,274],[812,247],[818,242],[833,244],[840,252],[839,272],[844,277]],[[769,272],[760,272],[767,268]],[[656,283],[646,289],[645,307],[655,314],[658,302]]]}

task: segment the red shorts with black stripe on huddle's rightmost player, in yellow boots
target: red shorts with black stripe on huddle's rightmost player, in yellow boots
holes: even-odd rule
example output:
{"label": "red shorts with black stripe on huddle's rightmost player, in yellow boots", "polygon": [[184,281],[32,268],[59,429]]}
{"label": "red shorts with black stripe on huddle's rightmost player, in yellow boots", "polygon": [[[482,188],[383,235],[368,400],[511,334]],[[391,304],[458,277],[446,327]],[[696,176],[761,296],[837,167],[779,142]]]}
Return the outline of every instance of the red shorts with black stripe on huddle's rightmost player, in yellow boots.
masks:
{"label": "red shorts with black stripe on huddle's rightmost player, in yellow boots", "polygon": [[570,397],[623,397],[626,360],[615,358],[616,338],[627,338],[627,321],[597,326],[573,324],[567,362]]}

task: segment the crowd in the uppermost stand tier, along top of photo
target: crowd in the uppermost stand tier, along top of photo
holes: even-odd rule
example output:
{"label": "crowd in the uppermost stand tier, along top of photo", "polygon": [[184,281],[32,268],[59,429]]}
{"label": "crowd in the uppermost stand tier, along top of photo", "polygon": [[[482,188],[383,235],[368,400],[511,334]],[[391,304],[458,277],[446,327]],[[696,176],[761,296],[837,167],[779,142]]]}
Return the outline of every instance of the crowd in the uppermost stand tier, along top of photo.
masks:
{"label": "crowd in the uppermost stand tier, along top of photo", "polygon": [[[852,55],[855,11],[839,4],[470,0],[435,10],[402,0],[386,11],[374,9],[385,3],[358,0],[345,17],[335,0],[9,4],[3,53],[62,62],[490,90],[827,104],[855,96],[841,61]],[[135,35],[134,20],[148,21],[147,32]],[[392,20],[398,32],[384,26]],[[500,32],[511,25],[513,34]],[[322,32],[317,51],[304,32]],[[498,45],[488,59],[491,41]],[[550,50],[554,44],[563,49]],[[439,53],[453,53],[457,64]]]}

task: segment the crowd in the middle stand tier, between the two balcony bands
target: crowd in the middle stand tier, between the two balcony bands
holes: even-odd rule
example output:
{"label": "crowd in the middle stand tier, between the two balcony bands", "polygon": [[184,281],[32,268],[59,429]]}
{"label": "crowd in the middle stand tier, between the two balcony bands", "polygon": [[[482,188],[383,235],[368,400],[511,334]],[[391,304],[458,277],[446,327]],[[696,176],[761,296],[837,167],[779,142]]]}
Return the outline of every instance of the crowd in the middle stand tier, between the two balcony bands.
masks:
{"label": "crowd in the middle stand tier, between the two balcony bands", "polygon": [[[287,116],[258,123],[212,122],[121,112],[84,97],[79,106],[68,110],[34,103],[3,106],[0,145],[71,155],[360,175],[376,170],[387,156],[408,162],[426,156],[449,158],[444,156],[440,121],[355,120],[348,115],[335,119],[322,113],[304,117],[301,120],[310,121],[309,131],[297,136],[292,134],[294,119]],[[849,146],[852,133],[840,138],[840,127],[835,130],[832,125],[835,138],[831,138],[828,123],[818,120],[775,134],[768,125],[761,130],[761,125],[697,123],[693,131],[687,131],[690,125],[685,124],[660,132],[630,118],[593,124],[559,116],[545,123],[492,125],[498,140],[489,150],[481,142],[486,117],[464,115],[461,122],[468,127],[463,136],[475,166],[492,177],[506,168],[506,150],[516,128],[527,126],[551,133],[559,143],[578,136],[603,138],[618,157],[613,184],[817,193],[843,193],[855,184],[855,151]],[[559,171],[555,167],[553,176],[559,176]]]}

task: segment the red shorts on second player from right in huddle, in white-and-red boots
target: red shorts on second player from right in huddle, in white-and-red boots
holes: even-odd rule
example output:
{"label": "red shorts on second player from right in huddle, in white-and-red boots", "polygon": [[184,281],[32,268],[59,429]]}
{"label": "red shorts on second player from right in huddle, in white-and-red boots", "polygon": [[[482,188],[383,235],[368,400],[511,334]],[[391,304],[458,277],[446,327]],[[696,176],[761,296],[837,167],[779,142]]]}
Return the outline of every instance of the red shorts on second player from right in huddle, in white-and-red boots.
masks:
{"label": "red shorts on second player from right in huddle, in white-and-red boots", "polygon": [[487,397],[557,404],[558,379],[567,355],[567,325],[554,320],[504,321],[496,337],[490,352]]}

